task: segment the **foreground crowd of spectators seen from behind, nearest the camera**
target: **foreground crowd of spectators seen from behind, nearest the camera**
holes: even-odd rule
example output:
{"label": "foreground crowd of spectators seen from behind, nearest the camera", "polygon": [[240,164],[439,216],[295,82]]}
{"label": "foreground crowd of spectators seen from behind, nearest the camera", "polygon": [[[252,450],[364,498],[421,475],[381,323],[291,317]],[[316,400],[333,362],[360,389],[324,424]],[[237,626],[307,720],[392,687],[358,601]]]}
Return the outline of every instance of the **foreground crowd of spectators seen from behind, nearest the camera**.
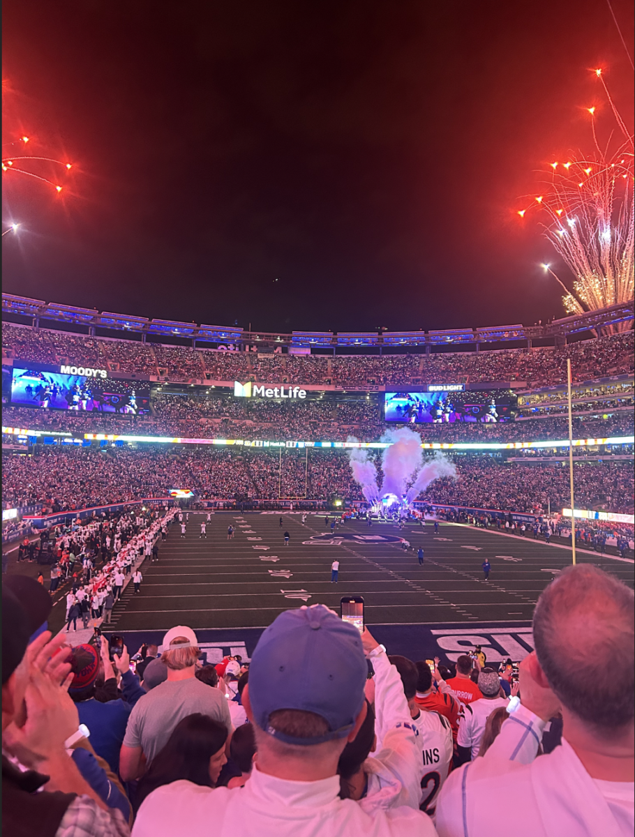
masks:
{"label": "foreground crowd of spectators seen from behind, nearest the camera", "polygon": [[248,665],[176,625],[135,670],[125,644],[41,632],[50,609],[3,584],[8,834],[488,837],[501,800],[519,837],[632,834],[633,593],[598,567],[545,588],[535,651],[498,670],[481,646],[393,655],[323,604],[280,614]]}

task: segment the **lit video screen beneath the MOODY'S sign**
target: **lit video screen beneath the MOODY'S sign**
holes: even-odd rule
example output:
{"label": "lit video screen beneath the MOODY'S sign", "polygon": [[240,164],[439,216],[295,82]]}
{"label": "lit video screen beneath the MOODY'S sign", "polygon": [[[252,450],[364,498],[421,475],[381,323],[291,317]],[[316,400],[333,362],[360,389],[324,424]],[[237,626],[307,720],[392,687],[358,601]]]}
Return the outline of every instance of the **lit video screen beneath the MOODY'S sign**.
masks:
{"label": "lit video screen beneath the MOODY'S sign", "polygon": [[150,388],[132,381],[104,381],[13,367],[11,403],[18,407],[142,415],[150,411]]}

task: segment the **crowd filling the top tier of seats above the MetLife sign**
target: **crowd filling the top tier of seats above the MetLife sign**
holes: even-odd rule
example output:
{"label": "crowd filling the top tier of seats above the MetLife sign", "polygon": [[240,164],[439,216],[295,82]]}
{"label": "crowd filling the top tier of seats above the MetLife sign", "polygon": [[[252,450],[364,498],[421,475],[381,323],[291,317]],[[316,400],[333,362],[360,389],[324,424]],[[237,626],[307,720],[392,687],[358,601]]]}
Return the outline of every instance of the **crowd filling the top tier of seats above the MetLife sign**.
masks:
{"label": "crowd filling the top tier of seats above the MetLife sign", "polygon": [[601,336],[561,348],[503,349],[405,355],[271,355],[210,351],[134,340],[70,335],[3,323],[8,357],[48,362],[99,363],[112,371],[174,380],[261,383],[368,384],[524,381],[529,387],[565,383],[570,357],[575,381],[632,372],[633,332]]}

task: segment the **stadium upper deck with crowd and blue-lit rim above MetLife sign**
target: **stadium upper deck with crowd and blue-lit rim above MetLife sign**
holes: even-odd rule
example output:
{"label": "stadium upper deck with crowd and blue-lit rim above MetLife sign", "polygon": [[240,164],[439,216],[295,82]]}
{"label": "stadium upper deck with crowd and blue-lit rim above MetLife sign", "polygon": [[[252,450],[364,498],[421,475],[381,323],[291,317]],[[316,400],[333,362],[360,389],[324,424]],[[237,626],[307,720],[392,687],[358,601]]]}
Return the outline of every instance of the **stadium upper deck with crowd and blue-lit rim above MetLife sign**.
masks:
{"label": "stadium upper deck with crowd and blue-lit rim above MetLife sign", "polygon": [[[37,300],[8,295],[3,295],[3,312],[13,319],[28,315],[32,320],[31,326],[3,322],[5,361],[19,358],[40,363],[93,365],[108,370],[113,377],[157,382],[210,385],[233,383],[237,379],[262,383],[275,380],[309,388],[369,390],[389,384],[514,382],[516,388],[531,389],[564,383],[567,357],[571,358],[573,377],[578,382],[633,371],[632,331],[566,345],[567,337],[584,336],[585,331],[589,334],[597,321],[615,326],[617,322],[623,324],[632,319],[632,306],[622,306],[619,311],[607,309],[601,316],[595,312],[592,317],[568,317],[550,326],[421,331],[410,332],[407,337],[399,332],[399,340],[398,332],[358,336],[359,339],[351,335],[323,335],[323,342],[317,341],[314,335],[316,339],[311,337],[310,346],[307,346],[309,337],[299,332],[285,336],[238,334],[240,330],[235,330],[234,342],[230,342],[230,330],[225,330],[225,336],[217,330],[214,336],[211,326],[98,314],[70,306],[46,306]],[[54,321],[65,322],[65,327],[83,326],[90,333],[43,327],[53,326]],[[113,339],[101,333],[112,334],[116,328],[125,330],[127,338]],[[188,338],[190,345],[158,342],[170,338],[181,341]],[[546,338],[552,339],[555,345],[531,347],[533,339]],[[501,341],[520,340],[526,341],[527,347],[480,350],[482,343],[498,347]],[[249,351],[228,351],[230,346]],[[357,352],[364,353],[335,353],[342,347],[357,347]],[[475,347],[477,351],[467,351]],[[332,356],[315,353],[328,348],[333,350]],[[448,352],[448,348],[455,351]],[[297,354],[300,350],[314,353]]]}

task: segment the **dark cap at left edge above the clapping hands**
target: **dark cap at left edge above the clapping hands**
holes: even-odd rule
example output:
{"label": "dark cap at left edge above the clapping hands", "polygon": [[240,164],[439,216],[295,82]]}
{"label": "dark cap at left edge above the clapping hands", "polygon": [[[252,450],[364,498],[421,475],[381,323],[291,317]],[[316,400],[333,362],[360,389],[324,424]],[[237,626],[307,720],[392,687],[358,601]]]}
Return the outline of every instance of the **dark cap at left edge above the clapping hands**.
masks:
{"label": "dark cap at left edge above the clapping hands", "polygon": [[28,640],[51,612],[49,593],[34,578],[8,576],[3,581],[3,686],[18,668]]}

